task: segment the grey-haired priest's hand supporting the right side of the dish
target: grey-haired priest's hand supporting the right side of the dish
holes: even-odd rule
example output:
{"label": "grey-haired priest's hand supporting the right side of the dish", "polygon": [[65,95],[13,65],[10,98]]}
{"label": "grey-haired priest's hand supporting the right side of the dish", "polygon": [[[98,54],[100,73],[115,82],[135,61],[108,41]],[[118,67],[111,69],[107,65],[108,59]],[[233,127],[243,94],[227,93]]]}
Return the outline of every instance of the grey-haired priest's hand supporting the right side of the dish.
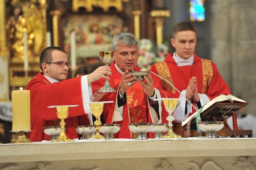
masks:
{"label": "grey-haired priest's hand supporting the right side of the dish", "polygon": [[143,77],[145,81],[139,80],[141,87],[143,88],[144,92],[149,96],[153,97],[155,94],[155,89],[154,89],[154,81],[152,76],[149,74],[147,76]]}

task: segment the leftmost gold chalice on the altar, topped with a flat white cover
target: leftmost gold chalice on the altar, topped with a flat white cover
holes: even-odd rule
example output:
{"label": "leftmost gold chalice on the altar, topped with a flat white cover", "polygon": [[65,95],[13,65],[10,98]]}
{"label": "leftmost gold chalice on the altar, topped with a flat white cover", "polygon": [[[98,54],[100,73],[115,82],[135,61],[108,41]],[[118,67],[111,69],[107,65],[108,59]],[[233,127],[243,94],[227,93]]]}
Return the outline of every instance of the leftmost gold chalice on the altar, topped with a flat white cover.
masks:
{"label": "leftmost gold chalice on the altar, topped with a flat white cover", "polygon": [[64,119],[68,118],[68,114],[69,114],[69,107],[76,107],[78,105],[62,105],[62,106],[48,106],[47,108],[56,108],[57,111],[57,116],[59,119],[61,119],[60,121],[60,126],[61,126],[61,133],[58,137],[58,139],[53,140],[52,142],[70,142],[73,141],[71,139],[69,139],[66,135],[65,135],[65,121]]}

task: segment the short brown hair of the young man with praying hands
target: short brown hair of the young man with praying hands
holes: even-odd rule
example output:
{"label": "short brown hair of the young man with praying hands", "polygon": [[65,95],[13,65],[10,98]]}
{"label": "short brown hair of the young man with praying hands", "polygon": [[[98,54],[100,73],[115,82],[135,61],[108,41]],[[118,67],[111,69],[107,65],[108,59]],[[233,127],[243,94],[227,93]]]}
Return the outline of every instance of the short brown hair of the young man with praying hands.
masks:
{"label": "short brown hair of the young man with praying hands", "polygon": [[182,21],[175,24],[172,28],[172,38],[175,40],[177,32],[180,31],[193,31],[197,35],[197,28],[194,24],[187,21]]}

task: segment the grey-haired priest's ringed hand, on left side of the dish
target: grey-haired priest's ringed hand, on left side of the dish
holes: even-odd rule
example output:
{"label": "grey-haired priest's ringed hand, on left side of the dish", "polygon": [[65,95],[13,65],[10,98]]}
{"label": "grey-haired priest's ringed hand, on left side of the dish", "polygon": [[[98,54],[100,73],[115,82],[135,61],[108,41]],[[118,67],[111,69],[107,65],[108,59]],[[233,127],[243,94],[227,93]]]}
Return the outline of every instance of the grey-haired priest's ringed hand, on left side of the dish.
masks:
{"label": "grey-haired priest's ringed hand, on left side of the dish", "polygon": [[134,80],[137,77],[133,76],[131,77],[131,74],[127,74],[128,70],[125,71],[125,74],[121,78],[120,86],[119,86],[119,92],[121,95],[123,95],[126,90],[130,89],[133,84],[136,84],[139,80]]}

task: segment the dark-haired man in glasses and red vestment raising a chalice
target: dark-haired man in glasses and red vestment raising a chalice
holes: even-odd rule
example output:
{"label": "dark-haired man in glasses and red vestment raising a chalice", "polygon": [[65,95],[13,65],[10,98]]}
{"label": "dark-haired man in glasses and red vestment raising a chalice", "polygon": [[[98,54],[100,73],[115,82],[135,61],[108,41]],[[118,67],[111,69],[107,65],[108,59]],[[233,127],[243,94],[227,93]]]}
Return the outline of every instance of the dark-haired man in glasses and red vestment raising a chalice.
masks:
{"label": "dark-haired man in glasses and red vestment raising a chalice", "polygon": [[[59,47],[47,47],[40,55],[40,68],[42,73],[33,78],[26,86],[30,90],[30,122],[31,141],[49,140],[50,136],[44,134],[43,126],[59,126],[55,108],[47,108],[56,105],[79,105],[70,107],[68,118],[65,119],[67,126],[65,134],[70,139],[75,139],[78,134],[75,126],[79,125],[78,116],[91,113],[90,106],[85,102],[98,101],[104,93],[91,91],[91,82],[100,78],[107,78],[106,74],[112,74],[109,66],[98,67],[93,73],[67,79],[70,68],[65,51]],[[91,117],[90,117],[91,118]],[[87,117],[87,123],[90,122]]]}

